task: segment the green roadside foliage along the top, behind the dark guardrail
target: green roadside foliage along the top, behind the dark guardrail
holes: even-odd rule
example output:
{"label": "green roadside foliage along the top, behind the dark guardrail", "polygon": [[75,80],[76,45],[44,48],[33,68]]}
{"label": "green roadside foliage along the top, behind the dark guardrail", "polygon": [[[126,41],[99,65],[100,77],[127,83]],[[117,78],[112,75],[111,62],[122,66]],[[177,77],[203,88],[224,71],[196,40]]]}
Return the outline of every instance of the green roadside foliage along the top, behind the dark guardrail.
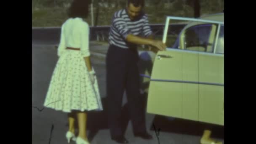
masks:
{"label": "green roadside foliage along the top, behind the dark guardrail", "polygon": [[[194,17],[194,0],[145,0],[151,24],[165,23],[166,16]],[[60,27],[67,19],[71,0],[32,0],[32,27]],[[115,11],[125,8],[127,0],[92,0],[94,21],[99,7],[98,25],[110,25]],[[200,0],[200,14],[220,13],[224,0]],[[91,7],[90,7],[91,8]],[[86,20],[91,24],[91,14]]]}

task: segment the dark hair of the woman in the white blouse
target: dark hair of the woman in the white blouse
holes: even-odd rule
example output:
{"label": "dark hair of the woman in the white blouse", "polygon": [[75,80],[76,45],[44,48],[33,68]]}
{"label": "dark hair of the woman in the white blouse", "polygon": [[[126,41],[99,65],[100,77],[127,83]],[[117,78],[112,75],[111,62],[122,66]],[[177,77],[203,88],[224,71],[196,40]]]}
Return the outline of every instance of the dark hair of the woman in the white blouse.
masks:
{"label": "dark hair of the woman in the white blouse", "polygon": [[68,16],[71,18],[87,18],[89,4],[91,4],[90,0],[73,0],[68,11]]}

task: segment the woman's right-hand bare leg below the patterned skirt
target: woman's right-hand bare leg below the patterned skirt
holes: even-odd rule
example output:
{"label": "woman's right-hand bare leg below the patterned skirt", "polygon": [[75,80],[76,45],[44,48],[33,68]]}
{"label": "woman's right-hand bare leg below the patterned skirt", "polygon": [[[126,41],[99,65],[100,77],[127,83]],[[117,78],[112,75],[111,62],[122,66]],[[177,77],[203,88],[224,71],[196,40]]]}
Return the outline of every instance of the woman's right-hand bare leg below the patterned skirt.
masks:
{"label": "woman's right-hand bare leg below the patterned skirt", "polygon": [[77,120],[78,120],[78,137],[88,141],[86,135],[86,121],[87,121],[87,113],[86,112],[77,112]]}

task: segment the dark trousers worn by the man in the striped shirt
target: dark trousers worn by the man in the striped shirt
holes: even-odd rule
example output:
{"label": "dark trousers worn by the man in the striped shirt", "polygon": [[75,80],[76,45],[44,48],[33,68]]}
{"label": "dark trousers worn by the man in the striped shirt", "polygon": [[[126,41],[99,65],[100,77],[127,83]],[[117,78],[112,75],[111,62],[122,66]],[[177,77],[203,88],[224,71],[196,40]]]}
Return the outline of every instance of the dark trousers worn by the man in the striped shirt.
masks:
{"label": "dark trousers worn by the man in the striped shirt", "polygon": [[133,132],[146,131],[145,112],[139,93],[138,51],[110,45],[107,51],[107,112],[111,137],[123,136],[121,109],[124,90]]}

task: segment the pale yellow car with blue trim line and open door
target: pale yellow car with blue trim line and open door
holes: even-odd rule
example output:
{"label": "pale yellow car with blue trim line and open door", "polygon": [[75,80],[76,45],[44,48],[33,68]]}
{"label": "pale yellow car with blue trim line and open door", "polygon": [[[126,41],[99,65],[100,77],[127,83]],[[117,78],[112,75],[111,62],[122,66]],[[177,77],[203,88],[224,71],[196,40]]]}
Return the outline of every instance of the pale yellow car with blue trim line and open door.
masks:
{"label": "pale yellow car with blue trim line and open door", "polygon": [[173,46],[155,56],[147,112],[224,125],[224,13],[199,19],[168,16],[164,43],[172,20],[189,23]]}

